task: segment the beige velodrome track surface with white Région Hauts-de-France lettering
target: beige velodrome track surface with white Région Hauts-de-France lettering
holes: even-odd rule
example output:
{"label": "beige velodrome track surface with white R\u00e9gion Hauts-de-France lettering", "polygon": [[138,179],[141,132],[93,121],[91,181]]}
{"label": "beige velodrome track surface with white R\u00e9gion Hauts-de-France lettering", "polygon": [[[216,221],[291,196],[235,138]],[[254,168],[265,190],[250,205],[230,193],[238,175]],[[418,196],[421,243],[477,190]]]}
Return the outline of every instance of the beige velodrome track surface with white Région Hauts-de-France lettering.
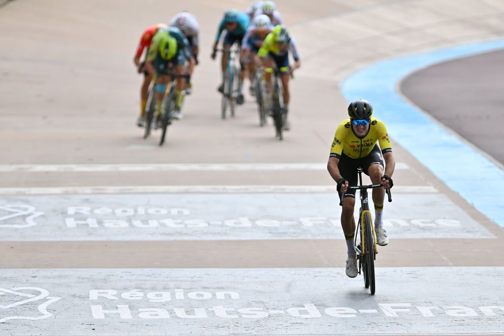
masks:
{"label": "beige velodrome track surface with white R\u00e9gion Hauts-de-France lettering", "polygon": [[[223,9],[246,2],[5,5],[0,330],[504,332],[500,227],[394,143],[391,243],[379,250],[370,296],[344,275],[325,170],[350,74],[502,38],[504,4],[460,3],[278,1],[302,59],[282,143],[258,126],[250,99],[234,119],[219,118],[218,64],[207,54]],[[185,117],[158,148],[134,127],[132,55],[145,27],[184,9],[202,27],[201,62]]]}

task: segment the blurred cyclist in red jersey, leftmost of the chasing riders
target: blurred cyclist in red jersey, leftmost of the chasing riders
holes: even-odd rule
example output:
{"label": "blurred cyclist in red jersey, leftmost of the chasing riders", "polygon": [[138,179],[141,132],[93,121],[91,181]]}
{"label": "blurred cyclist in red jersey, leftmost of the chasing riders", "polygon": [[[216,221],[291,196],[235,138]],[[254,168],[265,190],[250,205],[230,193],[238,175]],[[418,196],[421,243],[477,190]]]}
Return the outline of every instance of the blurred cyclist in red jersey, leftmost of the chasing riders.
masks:
{"label": "blurred cyclist in red jersey, leftmost of the chasing riders", "polygon": [[138,73],[141,74],[142,72],[144,73],[144,83],[142,84],[142,88],[140,90],[140,99],[141,99],[141,105],[140,105],[140,116],[138,117],[137,120],[137,125],[139,127],[144,126],[144,121],[145,121],[145,106],[147,105],[147,97],[149,94],[149,84],[152,81],[152,77],[154,74],[149,74],[147,69],[145,68],[145,60],[140,61],[140,57],[142,57],[142,53],[145,52],[147,53],[147,50],[149,49],[149,46],[151,45],[152,37],[157,33],[157,31],[161,28],[167,28],[168,26],[162,23],[158,23],[157,25],[150,26],[147,28],[144,33],[142,34],[142,37],[140,38],[140,43],[138,44],[137,48],[137,53],[135,54],[135,58],[133,61],[135,62],[135,65],[137,66]]}

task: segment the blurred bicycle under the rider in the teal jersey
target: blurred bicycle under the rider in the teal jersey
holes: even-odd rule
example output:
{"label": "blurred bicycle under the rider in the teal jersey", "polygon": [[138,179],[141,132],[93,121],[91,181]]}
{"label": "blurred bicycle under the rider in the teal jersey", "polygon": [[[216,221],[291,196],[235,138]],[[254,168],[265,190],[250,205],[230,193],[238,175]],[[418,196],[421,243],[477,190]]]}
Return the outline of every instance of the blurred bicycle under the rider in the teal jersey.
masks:
{"label": "blurred bicycle under the rider in the teal jersey", "polygon": [[221,100],[221,118],[226,118],[226,110],[229,106],[231,116],[234,116],[236,101],[240,94],[238,88],[240,86],[240,77],[236,66],[236,54],[239,54],[240,49],[237,47],[231,49],[218,49],[227,55],[227,67],[224,71],[224,90]]}

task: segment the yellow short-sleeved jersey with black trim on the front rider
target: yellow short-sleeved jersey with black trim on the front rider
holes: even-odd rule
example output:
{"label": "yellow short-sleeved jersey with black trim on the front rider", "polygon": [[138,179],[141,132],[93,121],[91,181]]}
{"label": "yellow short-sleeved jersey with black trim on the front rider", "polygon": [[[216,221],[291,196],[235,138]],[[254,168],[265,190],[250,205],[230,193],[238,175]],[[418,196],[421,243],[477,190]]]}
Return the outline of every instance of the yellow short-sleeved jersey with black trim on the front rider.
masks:
{"label": "yellow short-sleeved jersey with black trim on the front rider", "polygon": [[330,156],[339,159],[344,154],[352,159],[363,158],[371,152],[376,141],[379,142],[383,154],[392,152],[387,127],[383,121],[371,117],[367,134],[359,138],[353,132],[350,119],[345,119],[336,129]]}

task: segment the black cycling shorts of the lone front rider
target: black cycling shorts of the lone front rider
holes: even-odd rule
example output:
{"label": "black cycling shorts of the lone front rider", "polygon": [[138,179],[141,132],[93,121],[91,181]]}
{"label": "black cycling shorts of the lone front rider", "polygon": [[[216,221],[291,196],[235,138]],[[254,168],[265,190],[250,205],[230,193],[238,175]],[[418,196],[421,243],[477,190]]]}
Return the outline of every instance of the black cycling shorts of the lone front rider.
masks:
{"label": "black cycling shorts of the lone front rider", "polygon": [[[382,151],[378,145],[374,145],[371,153],[360,159],[352,159],[345,154],[341,154],[340,161],[338,162],[338,169],[340,170],[341,176],[348,180],[348,186],[357,186],[359,183],[359,175],[357,174],[357,168],[361,167],[362,172],[369,176],[368,169],[370,165],[379,164],[385,168],[383,162]],[[341,192],[338,192],[341,199]],[[345,192],[345,197],[355,198],[355,190],[347,190]]]}

